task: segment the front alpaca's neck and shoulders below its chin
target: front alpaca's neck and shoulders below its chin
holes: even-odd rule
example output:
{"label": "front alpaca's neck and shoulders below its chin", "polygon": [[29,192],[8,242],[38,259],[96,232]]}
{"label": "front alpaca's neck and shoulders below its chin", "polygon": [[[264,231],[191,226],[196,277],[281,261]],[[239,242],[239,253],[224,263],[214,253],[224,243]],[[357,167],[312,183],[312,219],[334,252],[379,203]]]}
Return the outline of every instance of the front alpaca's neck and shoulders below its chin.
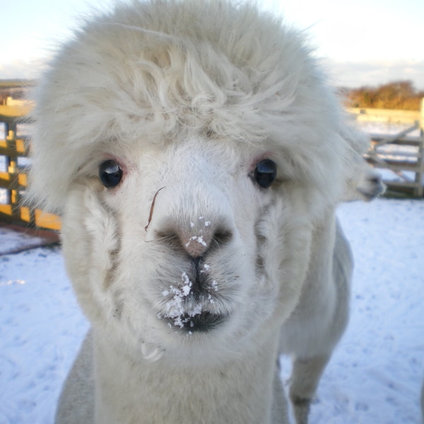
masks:
{"label": "front alpaca's neck and shoulders below its chin", "polygon": [[[95,354],[92,337],[90,332],[64,385],[57,423],[286,422],[285,398],[269,352],[220,367],[187,369],[161,360],[134,363],[110,346],[105,346],[106,355]],[[83,364],[88,372],[78,372]],[[269,384],[272,372],[274,392]]]}

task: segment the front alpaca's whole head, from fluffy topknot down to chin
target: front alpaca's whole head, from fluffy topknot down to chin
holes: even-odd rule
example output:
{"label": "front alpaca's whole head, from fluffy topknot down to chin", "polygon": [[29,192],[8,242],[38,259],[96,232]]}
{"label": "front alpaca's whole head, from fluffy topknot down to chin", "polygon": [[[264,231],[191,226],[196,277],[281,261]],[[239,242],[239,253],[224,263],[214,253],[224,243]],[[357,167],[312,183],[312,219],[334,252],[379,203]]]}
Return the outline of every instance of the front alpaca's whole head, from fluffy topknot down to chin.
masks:
{"label": "front alpaca's whole head, from fluffy topknot down to chin", "polygon": [[118,6],[59,52],[35,120],[31,193],[110,343],[222,359],[293,311],[353,151],[300,35],[226,2]]}

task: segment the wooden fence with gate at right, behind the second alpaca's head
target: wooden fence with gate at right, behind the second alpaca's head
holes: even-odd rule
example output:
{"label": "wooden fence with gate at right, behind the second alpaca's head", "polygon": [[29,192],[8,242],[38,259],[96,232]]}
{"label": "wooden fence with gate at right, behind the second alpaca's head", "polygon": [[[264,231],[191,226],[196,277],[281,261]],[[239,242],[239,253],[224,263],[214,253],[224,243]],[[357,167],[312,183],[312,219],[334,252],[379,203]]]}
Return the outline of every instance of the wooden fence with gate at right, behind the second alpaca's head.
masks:
{"label": "wooden fence with gate at right, behind the second alpaca's head", "polygon": [[[365,158],[383,171],[384,184],[414,197],[424,194],[424,99],[420,111],[351,108],[361,124],[398,128],[380,134],[368,129],[371,146]],[[366,127],[365,127],[366,130]]]}

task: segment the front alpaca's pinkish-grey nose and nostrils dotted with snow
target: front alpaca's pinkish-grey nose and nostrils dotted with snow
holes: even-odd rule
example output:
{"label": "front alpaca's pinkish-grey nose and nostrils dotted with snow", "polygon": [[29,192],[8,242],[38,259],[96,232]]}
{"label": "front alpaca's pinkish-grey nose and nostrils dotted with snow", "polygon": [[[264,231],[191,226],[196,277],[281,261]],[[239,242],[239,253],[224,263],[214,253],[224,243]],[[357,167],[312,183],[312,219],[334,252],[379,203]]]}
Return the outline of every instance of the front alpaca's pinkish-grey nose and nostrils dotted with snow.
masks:
{"label": "front alpaca's pinkish-grey nose and nostrils dotted with snow", "polygon": [[[214,223],[215,222],[215,223]],[[232,239],[232,231],[223,220],[208,220],[200,216],[187,223],[174,223],[168,220],[163,230],[156,230],[156,237],[170,245],[178,245],[189,254],[189,257],[199,258],[214,247],[223,247]]]}

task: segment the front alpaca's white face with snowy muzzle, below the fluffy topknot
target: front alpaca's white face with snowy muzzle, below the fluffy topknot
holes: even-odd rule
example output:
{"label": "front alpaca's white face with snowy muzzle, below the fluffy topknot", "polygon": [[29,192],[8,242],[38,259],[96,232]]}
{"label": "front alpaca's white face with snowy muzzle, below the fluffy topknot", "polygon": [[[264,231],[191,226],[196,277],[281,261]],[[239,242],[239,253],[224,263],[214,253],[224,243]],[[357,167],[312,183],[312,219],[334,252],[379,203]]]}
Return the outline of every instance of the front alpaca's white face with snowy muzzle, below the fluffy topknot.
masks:
{"label": "front alpaca's white face with snowy muzzle, below the fluffy topknot", "polygon": [[243,150],[187,133],[111,146],[71,189],[62,237],[76,293],[95,328],[134,355],[222,359],[295,307],[307,199],[288,189],[278,155]]}

